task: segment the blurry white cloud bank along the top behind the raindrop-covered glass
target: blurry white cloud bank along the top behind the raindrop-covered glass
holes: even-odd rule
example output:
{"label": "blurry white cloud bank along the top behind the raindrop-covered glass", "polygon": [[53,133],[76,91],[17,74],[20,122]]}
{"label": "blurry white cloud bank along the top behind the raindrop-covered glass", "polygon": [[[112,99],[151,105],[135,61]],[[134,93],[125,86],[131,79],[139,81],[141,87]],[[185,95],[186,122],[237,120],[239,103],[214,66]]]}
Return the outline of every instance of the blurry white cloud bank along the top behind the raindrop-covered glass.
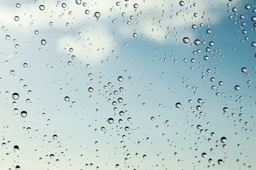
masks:
{"label": "blurry white cloud bank along the top behind the raindrop-covered glass", "polygon": [[[66,8],[61,7],[61,3],[52,1],[42,1],[42,3],[21,4],[20,8],[14,5],[6,6],[0,3],[0,21],[13,31],[28,32],[29,29],[49,27],[49,22],[53,22],[53,27],[60,29],[66,27],[67,22],[74,29],[80,28],[81,36],[63,35],[58,43],[58,48],[63,50],[74,48],[74,53],[81,59],[99,60],[108,56],[111,50],[116,48],[113,40],[113,32],[121,32],[123,38],[133,38],[134,31],[138,36],[143,34],[144,38],[154,40],[158,43],[180,43],[184,35],[193,39],[194,33],[185,30],[184,27],[191,27],[191,24],[218,23],[225,13],[225,5],[221,0],[209,1],[198,0],[195,3],[185,1],[184,6],[179,6],[179,1],[120,1],[120,6],[116,6],[116,1],[82,1],[86,5],[76,4],[75,0],[65,1]],[[125,7],[125,4],[128,4]],[[138,3],[138,9],[134,11],[133,4]],[[39,10],[39,5],[44,4],[45,10]],[[211,4],[214,4],[212,6]],[[214,10],[212,10],[214,9]],[[85,10],[90,10],[86,15]],[[72,14],[69,14],[72,11]],[[100,21],[93,17],[96,11],[100,12]],[[141,13],[140,13],[141,11]],[[216,11],[223,11],[216,12]],[[122,17],[121,13],[125,13]],[[198,17],[193,17],[198,13]],[[16,22],[15,16],[20,20]],[[133,15],[133,19],[129,19]],[[138,17],[140,15],[140,17]],[[202,18],[202,16],[205,18]],[[171,17],[172,16],[172,17]],[[111,20],[118,20],[112,23]],[[208,20],[211,18],[211,21]],[[131,25],[126,24],[131,22]],[[82,25],[82,26],[81,26]],[[77,32],[76,32],[77,33]],[[168,38],[167,38],[168,36]],[[68,51],[68,50],[67,50]],[[87,58],[89,57],[89,58]]]}

